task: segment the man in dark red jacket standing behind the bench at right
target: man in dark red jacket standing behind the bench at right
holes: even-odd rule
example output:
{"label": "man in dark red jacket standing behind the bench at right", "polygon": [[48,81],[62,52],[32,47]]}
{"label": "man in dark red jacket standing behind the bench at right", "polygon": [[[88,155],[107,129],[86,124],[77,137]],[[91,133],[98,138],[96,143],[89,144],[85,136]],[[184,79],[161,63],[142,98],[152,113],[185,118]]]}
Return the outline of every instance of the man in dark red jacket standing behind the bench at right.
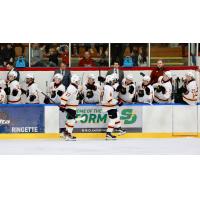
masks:
{"label": "man in dark red jacket standing behind the bench at right", "polygon": [[167,71],[166,67],[164,67],[164,63],[162,60],[157,61],[157,66],[151,72],[151,85],[158,82],[158,78],[163,76],[163,73]]}

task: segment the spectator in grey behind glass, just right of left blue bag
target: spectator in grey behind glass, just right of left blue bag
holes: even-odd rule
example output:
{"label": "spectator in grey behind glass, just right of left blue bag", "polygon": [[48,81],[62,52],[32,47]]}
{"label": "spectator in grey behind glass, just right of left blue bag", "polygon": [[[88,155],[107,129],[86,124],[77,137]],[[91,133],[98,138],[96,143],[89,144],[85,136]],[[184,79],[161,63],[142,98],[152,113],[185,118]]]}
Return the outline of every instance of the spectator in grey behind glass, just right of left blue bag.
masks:
{"label": "spectator in grey behind glass, just right of left blue bag", "polygon": [[41,62],[42,58],[42,50],[39,47],[39,44],[35,43],[32,45],[31,48],[31,66],[32,67],[38,67],[38,66],[44,66],[44,64]]}

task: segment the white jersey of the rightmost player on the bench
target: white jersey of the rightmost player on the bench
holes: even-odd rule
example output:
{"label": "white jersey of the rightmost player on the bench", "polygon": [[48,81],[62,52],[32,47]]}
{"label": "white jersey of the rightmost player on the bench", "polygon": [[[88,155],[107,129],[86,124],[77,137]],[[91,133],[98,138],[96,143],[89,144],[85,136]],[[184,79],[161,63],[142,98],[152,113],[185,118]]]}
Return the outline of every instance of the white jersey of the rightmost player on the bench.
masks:
{"label": "white jersey of the rightmost player on the bench", "polygon": [[183,101],[189,105],[195,105],[198,97],[198,87],[195,80],[192,80],[186,84],[187,92],[183,94]]}

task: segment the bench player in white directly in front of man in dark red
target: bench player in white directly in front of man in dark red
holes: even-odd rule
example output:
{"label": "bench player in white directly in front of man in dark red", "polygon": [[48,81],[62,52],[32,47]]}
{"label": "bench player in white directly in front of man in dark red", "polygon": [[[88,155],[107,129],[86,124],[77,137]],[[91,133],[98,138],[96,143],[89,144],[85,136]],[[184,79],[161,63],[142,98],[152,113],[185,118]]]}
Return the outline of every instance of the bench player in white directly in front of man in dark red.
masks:
{"label": "bench player in white directly in front of man in dark red", "polygon": [[160,76],[158,82],[153,84],[154,87],[154,102],[155,103],[169,103],[172,95],[172,75],[170,71],[164,72]]}

